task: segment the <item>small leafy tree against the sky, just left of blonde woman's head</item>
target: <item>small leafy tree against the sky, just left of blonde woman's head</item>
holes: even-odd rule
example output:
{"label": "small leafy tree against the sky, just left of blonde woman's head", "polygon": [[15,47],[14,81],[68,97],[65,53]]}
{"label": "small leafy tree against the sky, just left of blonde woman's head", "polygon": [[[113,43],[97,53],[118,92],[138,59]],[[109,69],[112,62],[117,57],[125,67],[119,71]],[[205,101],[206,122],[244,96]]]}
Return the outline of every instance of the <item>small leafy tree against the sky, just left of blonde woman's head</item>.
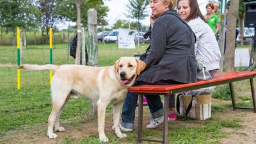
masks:
{"label": "small leafy tree against the sky, just left of blonde woman's head", "polygon": [[129,0],[129,4],[126,5],[128,9],[126,17],[136,19],[138,31],[140,31],[141,28],[140,20],[143,20],[148,16],[146,9],[148,3],[148,0]]}

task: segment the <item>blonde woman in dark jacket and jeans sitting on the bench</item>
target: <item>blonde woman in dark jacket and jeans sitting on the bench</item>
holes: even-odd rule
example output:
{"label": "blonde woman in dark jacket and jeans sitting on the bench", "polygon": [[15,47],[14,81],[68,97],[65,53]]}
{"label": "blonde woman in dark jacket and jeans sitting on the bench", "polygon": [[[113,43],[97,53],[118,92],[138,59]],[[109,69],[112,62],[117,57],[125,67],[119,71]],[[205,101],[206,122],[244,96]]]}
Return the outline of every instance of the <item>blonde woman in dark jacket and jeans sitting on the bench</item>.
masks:
{"label": "blonde woman in dark jacket and jeans sitting on the bench", "polygon": [[[174,10],[176,3],[177,0],[150,0],[151,46],[144,61],[147,67],[134,86],[196,82],[195,35]],[[159,95],[145,97],[152,115],[147,128],[155,129],[163,124],[163,104]],[[170,99],[175,105],[174,95]],[[120,123],[122,131],[133,130],[137,100],[136,93],[127,93]]]}

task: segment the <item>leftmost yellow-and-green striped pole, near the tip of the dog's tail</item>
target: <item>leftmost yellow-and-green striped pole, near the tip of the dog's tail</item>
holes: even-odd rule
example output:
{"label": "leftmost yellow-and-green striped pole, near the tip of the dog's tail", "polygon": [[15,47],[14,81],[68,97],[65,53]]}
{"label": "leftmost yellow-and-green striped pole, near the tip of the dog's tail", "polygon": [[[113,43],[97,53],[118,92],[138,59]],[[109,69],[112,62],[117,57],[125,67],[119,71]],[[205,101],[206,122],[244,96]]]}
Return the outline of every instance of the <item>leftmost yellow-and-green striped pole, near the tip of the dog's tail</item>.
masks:
{"label": "leftmost yellow-and-green striped pole, near the tip of the dog's tail", "polygon": [[17,27],[17,89],[20,89],[20,28]]}

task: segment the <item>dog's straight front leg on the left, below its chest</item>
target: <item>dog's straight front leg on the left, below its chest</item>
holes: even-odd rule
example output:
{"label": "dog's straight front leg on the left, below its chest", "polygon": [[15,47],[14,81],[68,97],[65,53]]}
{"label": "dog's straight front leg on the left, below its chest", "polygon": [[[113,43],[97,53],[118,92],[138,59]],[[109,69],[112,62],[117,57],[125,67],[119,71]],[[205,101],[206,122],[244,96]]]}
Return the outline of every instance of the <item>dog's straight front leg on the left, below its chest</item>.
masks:
{"label": "dog's straight front leg on the left, below its chest", "polygon": [[98,131],[99,131],[99,138],[100,141],[108,142],[108,138],[105,135],[104,127],[105,127],[105,115],[106,115],[106,108],[108,106],[107,102],[101,102],[98,100]]}

